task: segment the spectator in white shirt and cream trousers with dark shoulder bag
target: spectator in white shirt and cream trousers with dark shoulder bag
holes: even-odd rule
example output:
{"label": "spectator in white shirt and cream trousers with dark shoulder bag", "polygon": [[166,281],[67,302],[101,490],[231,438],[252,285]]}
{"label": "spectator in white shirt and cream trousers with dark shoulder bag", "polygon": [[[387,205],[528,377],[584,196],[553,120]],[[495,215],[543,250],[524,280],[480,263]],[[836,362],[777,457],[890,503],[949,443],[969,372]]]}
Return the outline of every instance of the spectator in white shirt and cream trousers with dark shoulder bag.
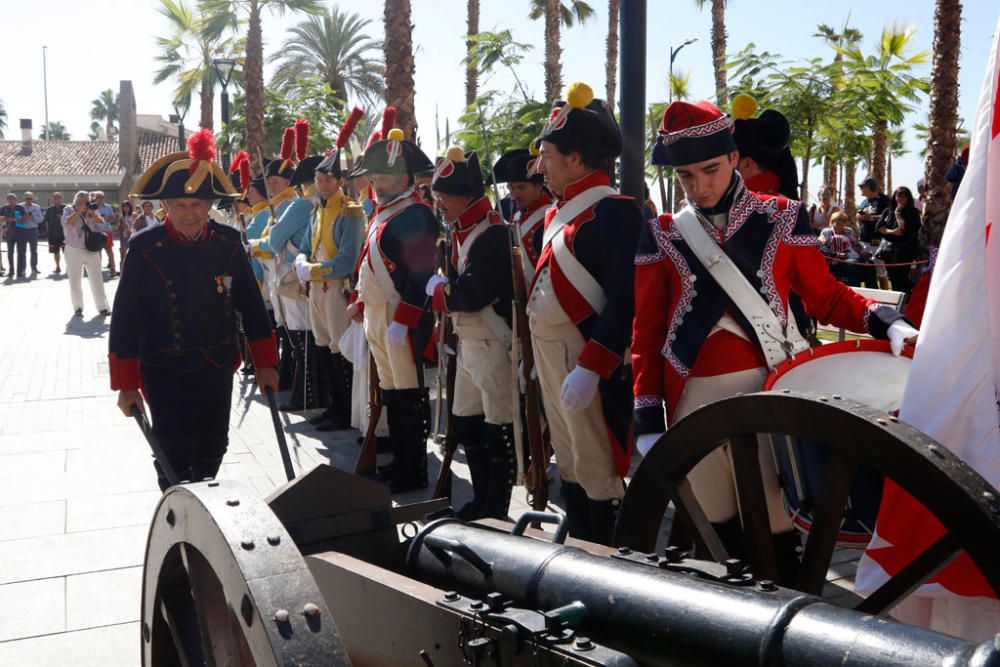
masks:
{"label": "spectator in white shirt and cream trousers with dark shoulder bag", "polygon": [[104,228],[104,219],[96,209],[90,207],[90,198],[86,190],[76,193],[73,205],[63,211],[63,234],[66,237],[66,272],[69,274],[69,296],[73,302],[74,315],[83,317],[82,273],[87,270],[87,281],[90,283],[90,293],[94,297],[94,306],[102,317],[111,314],[108,297],[104,294],[104,279],[101,276],[101,252],[87,250],[84,227],[91,231]]}

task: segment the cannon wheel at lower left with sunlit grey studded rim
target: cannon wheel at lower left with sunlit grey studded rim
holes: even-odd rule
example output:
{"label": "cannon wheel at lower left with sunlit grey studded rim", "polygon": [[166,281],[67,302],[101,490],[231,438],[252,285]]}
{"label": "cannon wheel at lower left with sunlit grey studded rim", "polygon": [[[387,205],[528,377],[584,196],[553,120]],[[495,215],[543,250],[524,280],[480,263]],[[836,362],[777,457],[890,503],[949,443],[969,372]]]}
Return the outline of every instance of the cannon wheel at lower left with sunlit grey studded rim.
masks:
{"label": "cannon wheel at lower left with sunlit grey studded rim", "polygon": [[350,665],[295,543],[247,487],[172,487],[146,543],[142,657],[167,665]]}

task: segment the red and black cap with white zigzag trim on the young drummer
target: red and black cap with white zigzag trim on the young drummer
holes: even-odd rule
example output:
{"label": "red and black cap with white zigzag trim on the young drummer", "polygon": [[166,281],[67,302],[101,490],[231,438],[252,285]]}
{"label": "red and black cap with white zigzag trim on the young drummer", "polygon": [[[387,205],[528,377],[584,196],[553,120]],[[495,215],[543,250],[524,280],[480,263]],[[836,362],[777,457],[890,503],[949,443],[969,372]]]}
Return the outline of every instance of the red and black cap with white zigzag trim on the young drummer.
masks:
{"label": "red and black cap with white zigzag trim on the young drummer", "polygon": [[651,162],[677,167],[736,151],[733,120],[711,102],[671,102],[663,112]]}

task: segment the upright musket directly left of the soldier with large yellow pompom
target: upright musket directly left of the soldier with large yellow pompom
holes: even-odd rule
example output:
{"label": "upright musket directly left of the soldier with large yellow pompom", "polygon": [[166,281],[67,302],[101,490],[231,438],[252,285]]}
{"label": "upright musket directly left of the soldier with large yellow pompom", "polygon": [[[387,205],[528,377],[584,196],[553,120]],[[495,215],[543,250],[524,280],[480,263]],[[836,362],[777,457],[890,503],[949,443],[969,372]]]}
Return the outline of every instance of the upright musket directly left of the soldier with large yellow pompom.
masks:
{"label": "upright musket directly left of the soldier with large yellow pompom", "polygon": [[[476,108],[479,111],[479,127],[483,135],[483,146],[487,154],[490,154],[490,140],[486,133],[486,125],[483,122],[483,109],[478,101],[476,102]],[[490,180],[497,207],[502,211],[502,207],[500,207],[500,188],[497,187],[496,174],[493,173],[492,169],[490,170]],[[502,215],[503,213],[501,212]],[[531,457],[531,464],[528,466],[526,480],[532,509],[544,510],[549,500],[548,478],[545,474],[548,468],[549,457],[545,454],[545,445],[542,440],[541,411],[539,410],[541,397],[538,393],[538,383],[536,380],[531,379],[535,368],[535,352],[531,345],[531,332],[527,312],[528,289],[524,278],[524,264],[521,260],[524,248],[521,247],[520,231],[510,223],[507,223],[507,230],[513,235],[513,240],[510,244],[510,271],[514,283],[514,300],[512,305],[514,310],[514,329],[517,334],[517,342],[515,344],[519,347],[525,378],[524,411],[525,421],[527,422],[525,431],[528,437],[528,453]],[[515,429],[515,433],[517,433],[517,429]]]}

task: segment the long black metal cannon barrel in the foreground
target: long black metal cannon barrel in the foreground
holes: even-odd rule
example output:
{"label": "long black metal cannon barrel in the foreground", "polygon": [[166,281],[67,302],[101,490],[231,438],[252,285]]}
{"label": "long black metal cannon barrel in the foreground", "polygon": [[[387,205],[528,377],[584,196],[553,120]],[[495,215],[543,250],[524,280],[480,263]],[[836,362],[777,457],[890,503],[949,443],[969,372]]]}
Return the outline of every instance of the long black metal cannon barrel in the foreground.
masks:
{"label": "long black metal cannon barrel in the foreground", "polygon": [[519,607],[579,601],[590,636],[642,664],[1000,665],[992,640],[977,646],[770,582],[719,583],[454,519],[421,530],[406,567],[432,585],[499,592]]}

